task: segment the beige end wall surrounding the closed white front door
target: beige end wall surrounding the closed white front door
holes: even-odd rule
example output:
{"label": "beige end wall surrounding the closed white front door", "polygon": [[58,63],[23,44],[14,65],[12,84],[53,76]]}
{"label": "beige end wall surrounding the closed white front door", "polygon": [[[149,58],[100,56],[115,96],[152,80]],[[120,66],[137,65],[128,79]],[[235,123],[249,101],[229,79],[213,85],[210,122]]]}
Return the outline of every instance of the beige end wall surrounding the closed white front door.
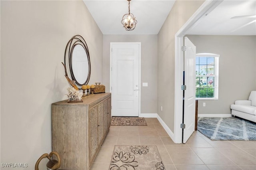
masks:
{"label": "beige end wall surrounding the closed white front door", "polygon": [[[110,82],[110,42],[141,42],[141,113],[157,113],[157,35],[104,35],[103,81]],[[142,83],[148,87],[142,87]]]}

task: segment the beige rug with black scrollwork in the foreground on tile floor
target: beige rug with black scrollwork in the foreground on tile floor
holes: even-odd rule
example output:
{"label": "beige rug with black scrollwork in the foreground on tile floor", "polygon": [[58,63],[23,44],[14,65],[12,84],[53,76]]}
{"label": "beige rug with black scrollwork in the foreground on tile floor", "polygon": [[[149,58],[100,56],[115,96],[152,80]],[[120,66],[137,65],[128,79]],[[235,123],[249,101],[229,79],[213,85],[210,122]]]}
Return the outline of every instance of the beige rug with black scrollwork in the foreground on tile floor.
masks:
{"label": "beige rug with black scrollwork in the foreground on tile floor", "polygon": [[165,170],[156,146],[114,147],[109,170]]}

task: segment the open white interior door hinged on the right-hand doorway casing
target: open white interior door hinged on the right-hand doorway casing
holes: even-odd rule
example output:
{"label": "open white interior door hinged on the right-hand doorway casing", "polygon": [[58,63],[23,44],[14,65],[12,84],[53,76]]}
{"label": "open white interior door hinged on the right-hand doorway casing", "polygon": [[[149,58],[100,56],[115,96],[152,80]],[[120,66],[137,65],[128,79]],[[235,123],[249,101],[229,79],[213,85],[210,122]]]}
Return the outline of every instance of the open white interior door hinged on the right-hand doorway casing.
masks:
{"label": "open white interior door hinged on the right-hand doorway casing", "polygon": [[185,143],[195,130],[195,101],[196,101],[196,46],[184,37],[185,55],[184,55],[184,71],[185,71],[185,95],[184,95],[184,133],[183,143]]}

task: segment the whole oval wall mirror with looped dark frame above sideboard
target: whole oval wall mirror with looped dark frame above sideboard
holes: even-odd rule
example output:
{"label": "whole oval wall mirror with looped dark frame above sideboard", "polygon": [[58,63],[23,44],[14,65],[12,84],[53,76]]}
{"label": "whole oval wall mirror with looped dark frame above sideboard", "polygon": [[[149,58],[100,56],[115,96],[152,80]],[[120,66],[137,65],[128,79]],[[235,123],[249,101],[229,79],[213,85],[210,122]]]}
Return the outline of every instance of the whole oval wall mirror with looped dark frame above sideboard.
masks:
{"label": "whole oval wall mirror with looped dark frame above sideboard", "polygon": [[77,85],[87,85],[91,75],[87,44],[80,35],[73,36],[65,49],[64,64]]}

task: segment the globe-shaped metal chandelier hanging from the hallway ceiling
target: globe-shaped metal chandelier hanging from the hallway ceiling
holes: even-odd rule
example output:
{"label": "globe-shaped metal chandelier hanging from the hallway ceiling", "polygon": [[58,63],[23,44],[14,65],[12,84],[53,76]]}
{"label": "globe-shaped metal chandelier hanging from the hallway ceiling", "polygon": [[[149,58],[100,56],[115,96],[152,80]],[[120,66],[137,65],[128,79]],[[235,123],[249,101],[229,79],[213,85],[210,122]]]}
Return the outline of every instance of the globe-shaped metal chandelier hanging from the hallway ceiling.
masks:
{"label": "globe-shaped metal chandelier hanging from the hallway ceiling", "polygon": [[123,27],[125,28],[126,31],[132,31],[134,30],[136,24],[137,24],[137,20],[135,20],[135,17],[133,14],[130,14],[130,1],[131,0],[127,0],[129,2],[129,14],[124,14],[121,23],[123,24]]}

